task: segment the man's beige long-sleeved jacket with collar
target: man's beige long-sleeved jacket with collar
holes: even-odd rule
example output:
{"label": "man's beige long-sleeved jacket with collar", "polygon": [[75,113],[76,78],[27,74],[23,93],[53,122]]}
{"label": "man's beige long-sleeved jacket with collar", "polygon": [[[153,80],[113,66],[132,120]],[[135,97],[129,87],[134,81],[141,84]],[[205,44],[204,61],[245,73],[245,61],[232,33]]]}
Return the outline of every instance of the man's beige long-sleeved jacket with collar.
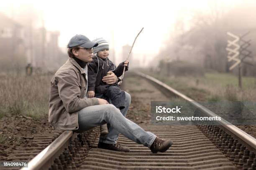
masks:
{"label": "man's beige long-sleeved jacket with collar", "polygon": [[54,129],[78,129],[77,112],[99,104],[95,97],[84,99],[86,74],[73,58],[69,58],[51,79],[49,123]]}

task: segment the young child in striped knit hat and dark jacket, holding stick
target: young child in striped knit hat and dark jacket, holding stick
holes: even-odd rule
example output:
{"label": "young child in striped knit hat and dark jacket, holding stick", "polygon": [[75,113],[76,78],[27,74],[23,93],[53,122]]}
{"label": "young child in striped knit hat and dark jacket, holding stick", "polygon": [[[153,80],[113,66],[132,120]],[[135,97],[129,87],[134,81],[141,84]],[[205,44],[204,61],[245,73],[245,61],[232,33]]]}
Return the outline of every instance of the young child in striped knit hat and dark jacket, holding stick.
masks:
{"label": "young child in striped knit hat and dark jacket, holding stick", "polygon": [[[102,78],[109,74],[109,71],[113,71],[116,76],[120,77],[123,74],[123,67],[125,71],[128,70],[129,61],[124,61],[115,68],[115,64],[108,59],[109,56],[109,44],[108,41],[103,38],[97,38],[93,42],[98,43],[97,47],[94,47],[94,58],[88,65],[88,91],[87,96],[97,97],[107,100],[111,100],[112,104],[118,108],[123,109],[125,107],[125,92],[120,90],[118,83],[106,84],[102,81]],[[109,100],[110,99],[110,100]],[[102,135],[108,134],[107,124],[100,126],[100,133]]]}

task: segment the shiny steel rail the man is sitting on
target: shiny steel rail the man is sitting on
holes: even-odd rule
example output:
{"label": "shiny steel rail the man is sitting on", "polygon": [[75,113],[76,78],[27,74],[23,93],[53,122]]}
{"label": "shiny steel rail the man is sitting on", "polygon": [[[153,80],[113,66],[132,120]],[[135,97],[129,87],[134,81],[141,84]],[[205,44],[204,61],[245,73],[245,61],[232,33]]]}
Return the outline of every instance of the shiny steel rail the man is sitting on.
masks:
{"label": "shiny steel rail the man is sitting on", "polygon": [[64,150],[64,147],[67,147],[70,139],[73,137],[73,133],[74,132],[70,130],[64,131],[48,147],[29,161],[28,167],[23,167],[21,170],[49,169],[54,163],[54,157],[58,156]]}

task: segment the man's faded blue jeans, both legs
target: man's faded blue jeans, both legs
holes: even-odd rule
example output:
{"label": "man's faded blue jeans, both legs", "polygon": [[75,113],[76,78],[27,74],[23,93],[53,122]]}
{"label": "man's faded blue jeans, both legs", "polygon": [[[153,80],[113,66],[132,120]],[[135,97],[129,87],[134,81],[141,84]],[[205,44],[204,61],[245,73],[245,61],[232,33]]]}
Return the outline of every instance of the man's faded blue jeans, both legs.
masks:
{"label": "man's faded blue jeans, both legs", "polygon": [[85,107],[78,112],[79,129],[75,132],[84,132],[101,124],[108,124],[108,134],[100,136],[99,142],[115,144],[119,133],[130,140],[146,147],[150,147],[156,135],[144,131],[138,124],[125,118],[131,103],[130,94],[125,92],[125,108],[117,109],[113,104],[100,104]]}

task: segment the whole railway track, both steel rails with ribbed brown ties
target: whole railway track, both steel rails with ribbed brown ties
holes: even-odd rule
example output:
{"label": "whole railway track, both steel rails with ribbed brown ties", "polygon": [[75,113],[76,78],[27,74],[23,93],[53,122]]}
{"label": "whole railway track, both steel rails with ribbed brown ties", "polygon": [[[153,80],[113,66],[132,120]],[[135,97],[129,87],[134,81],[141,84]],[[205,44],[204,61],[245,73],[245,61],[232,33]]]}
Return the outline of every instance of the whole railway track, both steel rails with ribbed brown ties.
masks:
{"label": "whole railway track, both steel rails with ribbed brown ties", "polygon": [[[137,73],[137,76],[147,79],[165,94],[175,94],[184,100],[192,101],[153,77],[142,73]],[[146,80],[141,79],[141,81]],[[199,107],[198,103],[193,103]],[[207,115],[215,115],[202,106],[200,108]],[[140,124],[140,126],[161,138],[173,140],[174,145],[164,153],[153,154],[143,145],[138,145],[120,135],[118,142],[130,147],[131,152],[115,152],[97,148],[99,136],[97,127],[82,134],[65,131],[48,147],[44,145],[46,149],[36,157],[33,157],[33,154],[28,155],[33,159],[28,163],[28,168],[22,169],[256,170],[256,139],[225,120],[219,126],[153,124]]]}

